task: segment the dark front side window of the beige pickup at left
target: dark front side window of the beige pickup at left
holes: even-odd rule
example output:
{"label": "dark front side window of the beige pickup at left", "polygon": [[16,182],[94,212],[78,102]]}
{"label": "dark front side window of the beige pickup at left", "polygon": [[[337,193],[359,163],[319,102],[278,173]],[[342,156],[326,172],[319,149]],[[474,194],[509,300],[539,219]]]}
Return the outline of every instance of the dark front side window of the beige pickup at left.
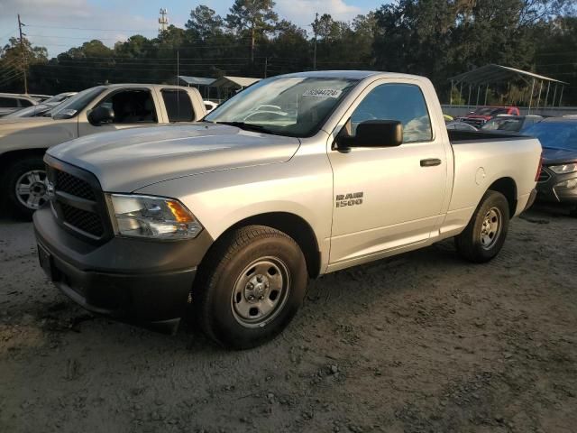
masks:
{"label": "dark front side window of the beige pickup at left", "polygon": [[151,124],[158,122],[149,90],[123,90],[106,97],[98,106],[112,108],[113,124]]}

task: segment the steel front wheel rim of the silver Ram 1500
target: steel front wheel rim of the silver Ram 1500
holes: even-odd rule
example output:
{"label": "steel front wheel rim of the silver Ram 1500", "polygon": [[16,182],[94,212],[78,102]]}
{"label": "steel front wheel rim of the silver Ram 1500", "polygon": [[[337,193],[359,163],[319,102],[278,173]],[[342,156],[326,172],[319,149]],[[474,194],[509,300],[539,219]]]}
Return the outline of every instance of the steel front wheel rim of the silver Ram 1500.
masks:
{"label": "steel front wheel rim of the silver Ram 1500", "polygon": [[246,266],[234,283],[233,316],[243,327],[263,327],[279,315],[289,298],[287,265],[262,257]]}

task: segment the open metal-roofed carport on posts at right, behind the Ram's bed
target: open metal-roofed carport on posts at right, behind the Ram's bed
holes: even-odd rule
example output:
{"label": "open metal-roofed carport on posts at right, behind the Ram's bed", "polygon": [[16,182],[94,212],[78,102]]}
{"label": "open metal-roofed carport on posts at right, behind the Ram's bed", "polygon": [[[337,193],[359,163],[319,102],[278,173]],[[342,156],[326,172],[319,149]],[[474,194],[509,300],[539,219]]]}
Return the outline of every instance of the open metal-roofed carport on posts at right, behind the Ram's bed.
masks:
{"label": "open metal-roofed carport on posts at right, behind the Ram's bed", "polygon": [[[508,88],[510,88],[511,81],[522,80],[527,84],[527,88],[531,88],[529,93],[529,114],[533,106],[533,100],[538,88],[538,95],[536,97],[536,109],[540,107],[541,96],[546,83],[545,89],[545,100],[541,108],[547,106],[549,101],[549,95],[553,94],[553,99],[551,100],[549,106],[561,106],[561,100],[563,98],[563,89],[565,85],[569,84],[564,81],[560,81],[555,78],[545,77],[527,70],[510,68],[508,66],[489,64],[482,66],[481,68],[472,69],[468,72],[463,72],[463,74],[456,75],[449,78],[451,81],[451,98],[450,105],[453,105],[453,88],[459,89],[459,94],[463,97],[463,84],[469,88],[469,97],[467,98],[467,105],[471,106],[472,89],[477,88],[477,98],[476,104],[479,106],[479,100],[481,97],[481,88],[484,88],[484,104],[487,105],[487,96],[489,95],[490,86],[495,86],[501,83],[508,83]],[[552,88],[553,85],[553,88]],[[466,88],[465,87],[465,88]],[[559,99],[557,99],[559,95]]]}

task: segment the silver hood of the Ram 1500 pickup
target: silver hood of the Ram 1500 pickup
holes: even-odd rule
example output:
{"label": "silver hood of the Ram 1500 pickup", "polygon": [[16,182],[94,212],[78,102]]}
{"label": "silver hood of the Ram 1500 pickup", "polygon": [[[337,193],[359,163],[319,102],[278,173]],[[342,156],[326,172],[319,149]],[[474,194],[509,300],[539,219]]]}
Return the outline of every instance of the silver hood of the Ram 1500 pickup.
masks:
{"label": "silver hood of the Ram 1500 pickup", "polygon": [[105,191],[132,192],[208,171],[289,161],[299,144],[298,138],[198,123],[92,134],[48,153],[94,173]]}

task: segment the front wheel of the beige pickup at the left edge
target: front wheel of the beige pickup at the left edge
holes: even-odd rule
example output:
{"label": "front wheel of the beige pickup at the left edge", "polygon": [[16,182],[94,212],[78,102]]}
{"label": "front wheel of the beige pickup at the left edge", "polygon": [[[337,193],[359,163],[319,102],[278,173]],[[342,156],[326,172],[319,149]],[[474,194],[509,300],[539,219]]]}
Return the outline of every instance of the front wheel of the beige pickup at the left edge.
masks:
{"label": "front wheel of the beige pickup at the left edge", "polygon": [[[8,211],[13,217],[30,220],[34,211],[47,201],[44,180],[46,169],[39,155],[14,161],[5,172],[2,184]],[[28,186],[30,193],[26,194]]]}

